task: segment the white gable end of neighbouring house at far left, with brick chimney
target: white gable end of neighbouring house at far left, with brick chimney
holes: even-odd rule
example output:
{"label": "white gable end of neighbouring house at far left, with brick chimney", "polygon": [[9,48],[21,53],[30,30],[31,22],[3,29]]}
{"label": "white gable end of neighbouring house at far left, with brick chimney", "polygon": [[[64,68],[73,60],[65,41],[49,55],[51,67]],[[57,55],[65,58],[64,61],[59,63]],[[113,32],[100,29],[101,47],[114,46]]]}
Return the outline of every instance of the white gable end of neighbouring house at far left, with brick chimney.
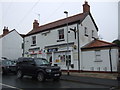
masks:
{"label": "white gable end of neighbouring house at far left, with brick chimney", "polygon": [[9,31],[8,27],[4,27],[0,42],[0,58],[14,60],[22,56],[23,38],[15,29]]}

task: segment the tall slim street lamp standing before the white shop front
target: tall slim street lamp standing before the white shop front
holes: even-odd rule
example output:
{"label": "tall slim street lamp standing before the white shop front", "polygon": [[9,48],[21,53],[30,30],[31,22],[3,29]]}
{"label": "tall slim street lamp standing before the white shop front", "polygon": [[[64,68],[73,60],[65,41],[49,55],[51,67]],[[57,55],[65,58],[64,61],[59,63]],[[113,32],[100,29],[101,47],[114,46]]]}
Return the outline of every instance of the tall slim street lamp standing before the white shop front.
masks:
{"label": "tall slim street lamp standing before the white shop front", "polygon": [[[69,50],[69,46],[68,46],[68,12],[67,11],[64,11],[64,13],[66,14],[66,24],[67,24],[67,52]],[[68,59],[68,56],[66,54],[66,61],[67,61],[67,75],[69,75],[69,59]]]}

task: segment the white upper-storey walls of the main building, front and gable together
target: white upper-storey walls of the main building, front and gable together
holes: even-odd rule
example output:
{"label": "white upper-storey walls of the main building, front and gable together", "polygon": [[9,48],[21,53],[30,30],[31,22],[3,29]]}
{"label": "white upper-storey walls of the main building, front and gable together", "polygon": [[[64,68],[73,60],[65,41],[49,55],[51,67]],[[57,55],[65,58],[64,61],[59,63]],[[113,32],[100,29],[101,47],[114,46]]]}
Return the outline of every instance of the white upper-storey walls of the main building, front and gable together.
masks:
{"label": "white upper-storey walls of the main building, front and gable together", "polygon": [[[80,47],[82,47],[83,45],[85,45],[86,43],[89,43],[90,41],[93,40],[92,38],[92,30],[95,31],[95,37],[98,38],[98,33],[97,30],[93,24],[93,22],[91,21],[90,16],[88,15],[84,21],[82,22],[82,25],[79,25],[79,34],[80,34]],[[77,23],[70,25],[68,27],[68,29],[70,28],[77,28]],[[88,28],[89,31],[89,37],[84,36],[84,27]],[[64,36],[65,36],[65,41],[62,42],[57,42],[58,40],[58,30],[60,29],[64,29]],[[69,30],[70,31],[70,30]],[[43,32],[44,33],[44,32]],[[77,35],[77,34],[76,34]],[[38,34],[34,34],[31,36],[27,36],[25,37],[25,51],[27,51],[30,47],[31,47],[31,38],[32,36],[36,36],[37,37],[37,46],[44,48],[45,46],[49,46],[49,45],[56,45],[56,44],[62,44],[62,43],[67,43],[67,30],[66,30],[66,26],[61,27],[61,28],[56,28],[56,29],[52,29],[50,30],[50,33],[47,34],[47,36],[42,35],[42,33],[38,33]],[[75,44],[77,45],[77,39],[74,38],[74,32],[70,31],[70,33],[68,34],[68,42],[75,42]]]}

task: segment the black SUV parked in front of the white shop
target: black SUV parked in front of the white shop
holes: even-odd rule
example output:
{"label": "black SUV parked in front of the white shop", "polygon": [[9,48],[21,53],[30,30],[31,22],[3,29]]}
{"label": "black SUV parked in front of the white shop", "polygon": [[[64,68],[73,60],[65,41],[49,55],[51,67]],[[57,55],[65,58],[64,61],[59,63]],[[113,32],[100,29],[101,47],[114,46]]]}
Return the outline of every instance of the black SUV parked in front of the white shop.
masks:
{"label": "black SUV parked in front of the white shop", "polygon": [[22,78],[24,75],[37,78],[38,81],[46,79],[59,80],[61,69],[58,66],[51,64],[43,58],[19,58],[17,61],[17,78]]}

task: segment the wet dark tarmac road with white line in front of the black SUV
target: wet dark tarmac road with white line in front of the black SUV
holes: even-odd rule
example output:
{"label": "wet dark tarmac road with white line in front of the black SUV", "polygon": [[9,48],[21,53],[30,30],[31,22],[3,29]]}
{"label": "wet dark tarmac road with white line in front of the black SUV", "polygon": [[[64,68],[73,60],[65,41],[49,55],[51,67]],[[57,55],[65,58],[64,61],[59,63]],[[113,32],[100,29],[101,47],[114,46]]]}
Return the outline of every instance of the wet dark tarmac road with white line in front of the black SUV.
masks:
{"label": "wet dark tarmac road with white line in front of the black SUV", "polygon": [[[31,77],[24,77],[23,79],[17,79],[15,75],[9,74],[2,76],[2,90],[4,89],[17,89],[17,90],[24,90],[24,89],[36,89],[36,88],[99,88],[102,90],[110,90],[108,86],[102,85],[93,85],[93,84],[83,84],[79,82],[72,82],[72,81],[53,81],[47,80],[45,82],[38,82]],[[96,90],[95,89],[95,90]]]}

